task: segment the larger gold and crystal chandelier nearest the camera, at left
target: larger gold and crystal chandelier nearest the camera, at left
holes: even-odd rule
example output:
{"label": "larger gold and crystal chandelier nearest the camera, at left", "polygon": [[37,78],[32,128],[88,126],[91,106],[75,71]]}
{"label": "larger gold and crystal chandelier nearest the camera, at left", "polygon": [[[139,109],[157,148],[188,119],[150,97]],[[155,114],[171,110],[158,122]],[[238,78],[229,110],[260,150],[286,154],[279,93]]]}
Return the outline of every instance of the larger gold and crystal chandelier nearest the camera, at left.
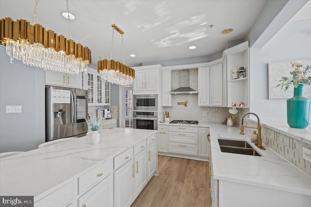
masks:
{"label": "larger gold and crystal chandelier nearest the camera, at left", "polygon": [[[35,14],[37,4],[38,0]],[[35,14],[33,25],[24,19],[0,19],[0,44],[6,46],[11,63],[15,58],[23,64],[69,74],[86,71],[87,65],[92,63],[91,50],[35,24]]]}

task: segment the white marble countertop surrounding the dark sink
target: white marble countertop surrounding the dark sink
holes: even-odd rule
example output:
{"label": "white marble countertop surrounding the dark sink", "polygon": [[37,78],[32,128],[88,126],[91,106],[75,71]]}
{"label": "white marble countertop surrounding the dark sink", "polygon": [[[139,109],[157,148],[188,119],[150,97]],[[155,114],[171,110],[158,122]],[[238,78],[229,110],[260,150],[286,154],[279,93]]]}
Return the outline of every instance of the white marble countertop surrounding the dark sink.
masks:
{"label": "white marble countertop surrounding the dark sink", "polygon": [[[311,196],[311,176],[283,159],[263,144],[261,150],[250,141],[250,135],[240,135],[240,127],[207,124],[210,127],[211,155],[215,179],[288,191]],[[249,156],[221,152],[218,139],[245,140],[262,155]]]}

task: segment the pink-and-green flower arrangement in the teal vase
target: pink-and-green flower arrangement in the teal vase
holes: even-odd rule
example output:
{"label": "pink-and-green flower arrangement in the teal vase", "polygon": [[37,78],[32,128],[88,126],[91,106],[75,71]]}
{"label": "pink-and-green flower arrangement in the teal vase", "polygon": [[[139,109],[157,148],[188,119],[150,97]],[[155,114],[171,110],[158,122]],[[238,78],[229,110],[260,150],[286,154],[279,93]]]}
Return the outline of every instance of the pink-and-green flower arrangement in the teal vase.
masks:
{"label": "pink-and-green flower arrangement in the teal vase", "polygon": [[293,77],[282,77],[279,84],[276,87],[285,88],[285,91],[294,85],[297,88],[299,85],[311,85],[311,66],[303,66],[300,62],[291,62],[293,71],[290,74]]}

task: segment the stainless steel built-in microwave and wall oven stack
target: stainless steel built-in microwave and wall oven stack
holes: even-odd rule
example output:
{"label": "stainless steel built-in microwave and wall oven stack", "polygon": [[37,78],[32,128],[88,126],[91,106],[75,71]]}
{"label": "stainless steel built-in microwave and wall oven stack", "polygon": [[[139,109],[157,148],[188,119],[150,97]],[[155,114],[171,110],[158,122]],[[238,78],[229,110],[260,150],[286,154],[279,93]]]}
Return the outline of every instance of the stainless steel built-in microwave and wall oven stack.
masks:
{"label": "stainless steel built-in microwave and wall oven stack", "polygon": [[134,128],[157,130],[157,95],[134,95]]}

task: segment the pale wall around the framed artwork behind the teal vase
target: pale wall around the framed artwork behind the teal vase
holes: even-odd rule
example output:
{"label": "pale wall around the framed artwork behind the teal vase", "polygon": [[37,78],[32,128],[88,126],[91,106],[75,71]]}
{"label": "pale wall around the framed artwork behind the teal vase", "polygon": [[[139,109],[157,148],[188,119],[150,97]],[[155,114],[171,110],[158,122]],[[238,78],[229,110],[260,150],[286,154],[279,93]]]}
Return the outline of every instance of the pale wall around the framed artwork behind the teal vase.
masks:
{"label": "pale wall around the framed artwork behind the teal vase", "polygon": [[250,49],[250,111],[260,118],[286,120],[286,100],[268,100],[268,63],[311,58],[310,25],[311,18],[290,21],[263,48]]}

